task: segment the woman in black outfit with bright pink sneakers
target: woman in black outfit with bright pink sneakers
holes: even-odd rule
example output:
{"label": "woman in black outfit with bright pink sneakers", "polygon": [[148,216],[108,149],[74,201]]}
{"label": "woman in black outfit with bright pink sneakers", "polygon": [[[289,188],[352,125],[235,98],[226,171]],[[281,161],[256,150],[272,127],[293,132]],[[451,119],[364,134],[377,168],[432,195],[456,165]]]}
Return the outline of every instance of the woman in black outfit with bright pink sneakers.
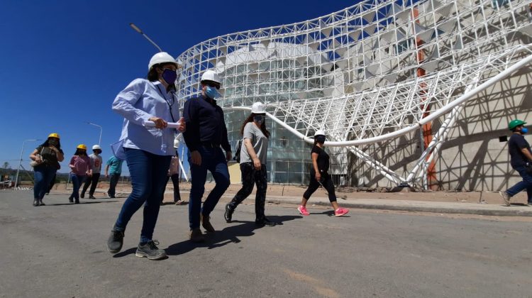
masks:
{"label": "woman in black outfit with bright pink sneakers", "polygon": [[328,174],[329,155],[323,150],[325,139],[326,136],[324,131],[318,130],[314,133],[314,147],[311,150],[312,167],[310,170],[310,183],[309,187],[303,194],[301,205],[297,207],[297,210],[303,216],[310,215],[309,211],[306,210],[306,202],[309,201],[311,195],[314,194],[316,189],[320,186],[327,189],[329,202],[333,205],[335,216],[343,216],[349,212],[349,209],[340,208],[338,202],[336,202],[333,180],[331,179],[331,175]]}

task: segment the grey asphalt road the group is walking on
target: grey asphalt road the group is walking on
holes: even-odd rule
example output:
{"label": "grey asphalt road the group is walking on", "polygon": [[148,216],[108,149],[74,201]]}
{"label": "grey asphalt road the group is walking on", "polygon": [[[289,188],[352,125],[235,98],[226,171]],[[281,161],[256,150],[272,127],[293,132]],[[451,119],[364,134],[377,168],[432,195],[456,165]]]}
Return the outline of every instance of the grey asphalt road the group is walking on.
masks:
{"label": "grey asphalt road the group is walking on", "polygon": [[[135,257],[142,211],[112,255],[123,199],[0,191],[0,297],[532,297],[532,223],[267,206],[282,225],[234,223],[223,203],[209,241],[187,241],[187,206],[161,207],[155,238],[169,258]],[[248,199],[253,203],[253,198]]]}

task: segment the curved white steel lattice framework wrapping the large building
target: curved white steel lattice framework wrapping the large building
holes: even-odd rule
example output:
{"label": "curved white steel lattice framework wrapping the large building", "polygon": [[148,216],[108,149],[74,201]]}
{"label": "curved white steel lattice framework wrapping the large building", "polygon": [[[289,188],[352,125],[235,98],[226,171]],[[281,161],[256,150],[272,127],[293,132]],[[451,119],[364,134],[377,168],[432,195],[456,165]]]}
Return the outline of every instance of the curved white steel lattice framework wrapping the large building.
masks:
{"label": "curved white steel lattice framework wrapping the large building", "polygon": [[[267,103],[270,118],[311,143],[344,147],[397,184],[422,184],[464,103],[532,62],[529,1],[367,0],[311,21],[232,33],[179,55],[181,104],[208,69],[223,77],[219,104]],[[415,135],[440,119],[404,177],[365,145]]]}

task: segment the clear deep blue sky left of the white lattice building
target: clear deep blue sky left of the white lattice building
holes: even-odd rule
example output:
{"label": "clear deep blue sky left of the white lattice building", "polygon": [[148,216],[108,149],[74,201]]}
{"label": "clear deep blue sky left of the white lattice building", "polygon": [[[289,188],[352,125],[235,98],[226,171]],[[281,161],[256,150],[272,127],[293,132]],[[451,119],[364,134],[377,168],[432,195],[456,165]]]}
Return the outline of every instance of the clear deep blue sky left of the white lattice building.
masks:
{"label": "clear deep blue sky left of the white lattice building", "polygon": [[[16,168],[23,140],[60,133],[67,163],[79,143],[111,156],[123,119],[111,102],[145,77],[153,45],[177,56],[218,35],[305,21],[358,1],[2,1],[0,3],[0,166]],[[23,166],[40,142],[27,142]],[[125,174],[127,168],[124,166]]]}

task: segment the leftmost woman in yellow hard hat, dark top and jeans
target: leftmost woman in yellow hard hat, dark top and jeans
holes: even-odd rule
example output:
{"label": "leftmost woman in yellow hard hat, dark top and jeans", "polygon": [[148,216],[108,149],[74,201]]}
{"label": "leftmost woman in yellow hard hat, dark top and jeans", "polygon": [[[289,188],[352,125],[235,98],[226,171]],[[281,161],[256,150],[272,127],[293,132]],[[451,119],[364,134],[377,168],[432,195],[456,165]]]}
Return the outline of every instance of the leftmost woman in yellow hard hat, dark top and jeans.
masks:
{"label": "leftmost woman in yellow hard hat, dark top and jeans", "polygon": [[61,150],[60,138],[57,133],[50,133],[48,139],[39,145],[30,155],[31,160],[37,163],[33,167],[33,206],[45,206],[43,198],[48,192],[50,182],[55,179],[55,173],[59,170],[59,162],[65,159]]}

